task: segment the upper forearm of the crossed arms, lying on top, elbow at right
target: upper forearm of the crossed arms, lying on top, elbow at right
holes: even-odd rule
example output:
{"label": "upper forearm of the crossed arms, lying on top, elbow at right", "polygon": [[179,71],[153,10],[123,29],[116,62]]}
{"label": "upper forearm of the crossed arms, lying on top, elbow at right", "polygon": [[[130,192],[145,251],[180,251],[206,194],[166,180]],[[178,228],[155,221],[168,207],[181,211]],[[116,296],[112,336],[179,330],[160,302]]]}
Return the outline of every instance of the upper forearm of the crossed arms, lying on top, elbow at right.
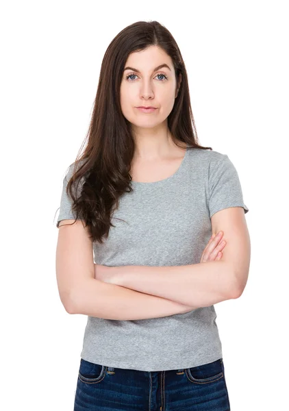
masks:
{"label": "upper forearm of the crossed arms, lying on top, elbow at right", "polygon": [[186,266],[116,266],[112,269],[112,284],[186,306],[208,307],[237,295],[234,269],[225,261]]}

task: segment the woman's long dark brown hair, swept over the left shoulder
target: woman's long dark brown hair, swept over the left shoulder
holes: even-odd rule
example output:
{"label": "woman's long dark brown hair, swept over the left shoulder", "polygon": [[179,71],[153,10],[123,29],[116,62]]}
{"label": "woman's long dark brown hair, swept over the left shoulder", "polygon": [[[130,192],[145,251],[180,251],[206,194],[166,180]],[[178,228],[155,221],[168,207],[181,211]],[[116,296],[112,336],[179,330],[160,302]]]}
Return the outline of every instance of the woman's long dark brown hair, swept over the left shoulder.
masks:
{"label": "woman's long dark brown hair, swept over the left shoulder", "polygon": [[[125,27],[105,51],[92,118],[84,140],[87,140],[87,145],[81,156],[79,150],[73,163],[73,174],[66,186],[66,194],[73,200],[75,218],[85,221],[90,238],[100,244],[103,238],[108,237],[110,227],[114,227],[111,223],[112,212],[118,208],[121,195],[133,190],[129,171],[135,142],[120,103],[125,62],[130,53],[149,46],[158,46],[171,57],[177,83],[181,74],[179,92],[167,119],[173,141],[178,147],[186,143],[189,149],[212,150],[212,147],[199,145],[186,67],[171,33],[158,21],[138,21]],[[81,181],[83,184],[79,190]],[[80,192],[78,197],[72,189],[76,183],[76,190]]]}

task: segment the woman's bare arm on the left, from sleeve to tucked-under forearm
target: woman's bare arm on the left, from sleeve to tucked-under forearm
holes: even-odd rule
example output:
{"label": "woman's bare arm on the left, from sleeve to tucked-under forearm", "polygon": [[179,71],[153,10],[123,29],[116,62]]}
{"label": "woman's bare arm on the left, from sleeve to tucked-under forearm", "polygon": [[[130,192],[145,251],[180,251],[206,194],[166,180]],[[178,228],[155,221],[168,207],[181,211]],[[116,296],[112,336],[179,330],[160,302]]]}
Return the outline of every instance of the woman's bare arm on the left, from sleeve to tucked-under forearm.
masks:
{"label": "woman's bare arm on the left, from sleeve to tucked-under forearm", "polygon": [[136,320],[194,310],[95,279],[92,239],[81,220],[60,221],[55,263],[60,299],[69,314]]}

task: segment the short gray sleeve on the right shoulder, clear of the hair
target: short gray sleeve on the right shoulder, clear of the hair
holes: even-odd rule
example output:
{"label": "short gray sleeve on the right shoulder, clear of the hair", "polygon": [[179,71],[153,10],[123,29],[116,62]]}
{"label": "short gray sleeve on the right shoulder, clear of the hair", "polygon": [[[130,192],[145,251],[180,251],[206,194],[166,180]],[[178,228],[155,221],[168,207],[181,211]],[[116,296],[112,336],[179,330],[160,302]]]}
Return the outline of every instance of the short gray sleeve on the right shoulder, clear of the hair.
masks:
{"label": "short gray sleeve on the right shoulder, clear of the hair", "polygon": [[242,207],[245,214],[249,211],[243,201],[236,167],[226,154],[222,154],[221,160],[210,163],[209,191],[210,217],[217,211],[229,207]]}

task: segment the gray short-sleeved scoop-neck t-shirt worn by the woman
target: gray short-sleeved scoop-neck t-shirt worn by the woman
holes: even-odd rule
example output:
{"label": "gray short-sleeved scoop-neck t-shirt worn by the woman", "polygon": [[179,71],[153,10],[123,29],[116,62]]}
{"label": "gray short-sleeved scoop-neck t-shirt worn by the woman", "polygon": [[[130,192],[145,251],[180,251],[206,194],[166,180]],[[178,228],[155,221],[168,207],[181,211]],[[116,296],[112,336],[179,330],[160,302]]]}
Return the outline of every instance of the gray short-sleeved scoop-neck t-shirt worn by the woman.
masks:
{"label": "gray short-sleeved scoop-neck t-shirt worn by the woman", "polygon": [[[66,196],[58,222],[75,219]],[[197,264],[212,235],[210,217],[244,205],[238,173],[218,151],[186,149],[179,169],[158,182],[132,182],[112,217],[103,245],[93,243],[95,264],[178,266]],[[121,221],[118,219],[123,219]],[[113,301],[108,301],[108,304]],[[84,360],[123,369],[166,371],[223,357],[214,306],[155,319],[118,321],[88,316],[80,354]]]}

